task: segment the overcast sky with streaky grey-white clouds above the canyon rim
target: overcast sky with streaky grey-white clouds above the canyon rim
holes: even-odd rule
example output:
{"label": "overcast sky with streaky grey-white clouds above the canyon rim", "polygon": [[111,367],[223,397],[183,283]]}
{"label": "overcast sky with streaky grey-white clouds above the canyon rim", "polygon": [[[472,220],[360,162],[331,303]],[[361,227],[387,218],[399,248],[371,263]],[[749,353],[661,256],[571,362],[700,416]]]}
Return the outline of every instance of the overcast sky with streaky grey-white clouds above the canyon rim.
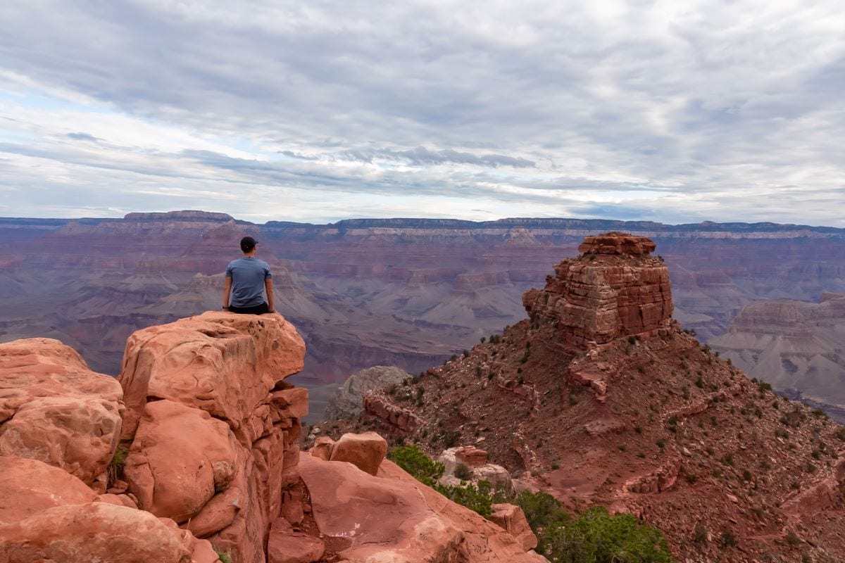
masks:
{"label": "overcast sky with streaky grey-white clouds above the canyon rim", "polygon": [[845,227],[845,3],[0,3],[0,216],[186,208]]}

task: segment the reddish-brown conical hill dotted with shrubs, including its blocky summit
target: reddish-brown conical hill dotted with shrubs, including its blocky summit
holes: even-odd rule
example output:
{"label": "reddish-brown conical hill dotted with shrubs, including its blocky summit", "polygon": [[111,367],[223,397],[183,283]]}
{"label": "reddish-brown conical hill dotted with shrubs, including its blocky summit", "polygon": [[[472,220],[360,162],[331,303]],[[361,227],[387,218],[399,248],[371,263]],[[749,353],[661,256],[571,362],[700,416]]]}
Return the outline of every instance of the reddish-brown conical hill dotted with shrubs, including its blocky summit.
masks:
{"label": "reddish-brown conical hill dotted with shrubs, including its blocky summit", "polygon": [[[368,394],[381,411],[413,417],[412,430],[370,409],[348,428],[416,441],[433,456],[483,448],[570,510],[598,504],[640,515],[682,561],[845,559],[845,429],[750,380],[671,320],[663,266],[646,241],[648,252],[607,242],[621,253],[602,257],[590,243],[545,290],[528,292],[530,319]],[[628,294],[627,310],[659,303],[661,312],[639,324],[617,315],[606,330],[567,322],[559,311],[614,302],[601,297],[613,293],[606,279],[619,279],[621,263],[644,273],[613,286],[616,295],[641,289]],[[591,285],[570,274],[586,268]]]}

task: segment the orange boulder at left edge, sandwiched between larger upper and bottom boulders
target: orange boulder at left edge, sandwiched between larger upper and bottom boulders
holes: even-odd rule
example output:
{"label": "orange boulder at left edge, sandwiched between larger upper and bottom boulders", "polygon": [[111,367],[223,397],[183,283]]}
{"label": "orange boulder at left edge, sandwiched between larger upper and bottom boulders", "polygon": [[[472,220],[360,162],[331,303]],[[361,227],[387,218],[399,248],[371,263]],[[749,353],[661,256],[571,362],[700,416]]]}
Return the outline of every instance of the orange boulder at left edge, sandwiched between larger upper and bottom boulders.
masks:
{"label": "orange boulder at left edge, sandwiched between larger upper and bottom boulders", "polygon": [[90,487],[60,468],[25,457],[0,456],[0,524],[54,506],[88,504]]}

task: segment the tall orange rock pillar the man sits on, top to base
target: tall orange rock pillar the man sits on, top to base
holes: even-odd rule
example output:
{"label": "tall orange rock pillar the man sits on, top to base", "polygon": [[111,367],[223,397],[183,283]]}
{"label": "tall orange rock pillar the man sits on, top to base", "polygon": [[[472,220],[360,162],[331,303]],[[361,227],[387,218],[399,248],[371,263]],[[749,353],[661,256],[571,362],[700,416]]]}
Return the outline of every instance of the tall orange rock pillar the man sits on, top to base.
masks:
{"label": "tall orange rock pillar the man sits on, top to base", "polygon": [[298,480],[308,392],[283,380],[304,354],[278,315],[206,312],[134,333],[118,379],[140,507],[233,560],[264,560],[283,489]]}

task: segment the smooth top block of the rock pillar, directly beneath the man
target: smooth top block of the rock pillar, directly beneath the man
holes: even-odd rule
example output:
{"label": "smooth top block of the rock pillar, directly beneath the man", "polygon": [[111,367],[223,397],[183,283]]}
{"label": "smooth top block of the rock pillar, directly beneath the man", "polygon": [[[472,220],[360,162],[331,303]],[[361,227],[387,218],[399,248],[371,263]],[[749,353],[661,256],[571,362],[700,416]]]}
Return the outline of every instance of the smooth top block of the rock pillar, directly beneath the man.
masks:
{"label": "smooth top block of the rock pillar, directly beneath the man", "polygon": [[233,430],[286,376],[303,368],[305,344],[281,315],[205,312],[129,337],[118,377],[134,435],[150,397],[167,398],[226,420]]}

